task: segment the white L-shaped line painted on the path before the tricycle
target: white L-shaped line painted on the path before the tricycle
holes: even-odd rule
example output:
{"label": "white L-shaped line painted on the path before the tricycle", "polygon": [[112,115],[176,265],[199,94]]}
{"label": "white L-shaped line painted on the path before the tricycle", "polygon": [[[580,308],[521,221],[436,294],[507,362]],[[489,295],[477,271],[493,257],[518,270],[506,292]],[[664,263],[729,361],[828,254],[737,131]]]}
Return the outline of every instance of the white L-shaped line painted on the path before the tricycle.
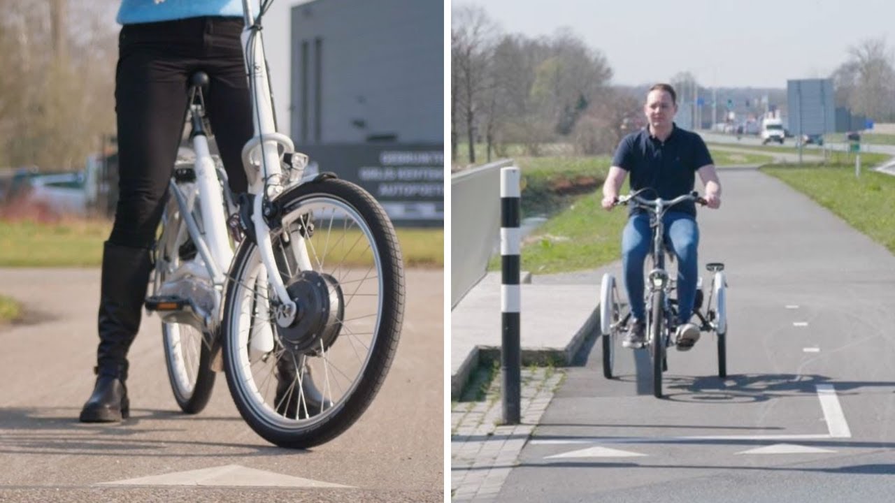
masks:
{"label": "white L-shaped line painted on the path before the tricycle", "polygon": [[[586,445],[586,444],[649,444],[661,442],[687,442],[693,440],[823,440],[823,439],[849,439],[851,438],[851,430],[848,429],[848,422],[845,419],[845,413],[842,413],[842,407],[839,398],[836,396],[836,388],[831,384],[818,384],[817,398],[821,402],[823,410],[823,419],[827,423],[829,433],[817,434],[783,434],[783,435],[694,435],[680,437],[589,437],[578,439],[532,439],[529,443],[532,445]],[[582,452],[588,449],[581,449]],[[624,452],[624,451],[622,451]],[[566,453],[571,454],[571,453]],[[562,457],[563,455],[554,455],[550,457]]]}

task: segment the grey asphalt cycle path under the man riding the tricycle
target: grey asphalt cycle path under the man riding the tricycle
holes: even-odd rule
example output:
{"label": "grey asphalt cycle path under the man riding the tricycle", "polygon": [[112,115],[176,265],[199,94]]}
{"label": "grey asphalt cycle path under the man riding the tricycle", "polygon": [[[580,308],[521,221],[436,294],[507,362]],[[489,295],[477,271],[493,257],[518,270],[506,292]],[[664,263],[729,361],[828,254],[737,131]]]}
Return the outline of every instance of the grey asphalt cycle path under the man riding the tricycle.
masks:
{"label": "grey asphalt cycle path under the man riding the tricycle", "polygon": [[700,262],[727,264],[729,377],[703,335],[657,399],[645,350],[617,343],[608,380],[593,345],[499,501],[895,500],[895,257],[770,176],[721,176]]}

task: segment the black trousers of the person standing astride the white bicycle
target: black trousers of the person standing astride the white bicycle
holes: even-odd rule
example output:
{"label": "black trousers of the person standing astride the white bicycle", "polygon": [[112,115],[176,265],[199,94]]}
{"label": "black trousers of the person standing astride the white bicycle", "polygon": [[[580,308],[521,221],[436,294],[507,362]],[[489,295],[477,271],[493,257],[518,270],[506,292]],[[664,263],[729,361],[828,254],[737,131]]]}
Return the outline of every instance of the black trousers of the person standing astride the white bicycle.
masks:
{"label": "black trousers of the person standing astride the white bicycle", "polygon": [[119,195],[109,242],[150,248],[161,219],[192,72],[209,74],[205,106],[230,188],[246,191],[241,152],[251,138],[242,18],[125,25],[115,72]]}

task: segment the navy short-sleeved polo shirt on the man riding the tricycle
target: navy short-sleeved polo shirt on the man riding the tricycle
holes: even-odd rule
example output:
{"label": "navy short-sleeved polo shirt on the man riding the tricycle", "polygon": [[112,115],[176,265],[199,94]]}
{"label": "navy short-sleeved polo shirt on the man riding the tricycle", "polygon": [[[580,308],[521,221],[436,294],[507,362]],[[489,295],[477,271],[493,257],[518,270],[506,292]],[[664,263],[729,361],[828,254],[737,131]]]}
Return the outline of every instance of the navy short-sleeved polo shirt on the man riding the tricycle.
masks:
{"label": "navy short-sleeved polo shirt on the man riding the tricycle", "polygon": [[[674,199],[693,192],[696,170],[710,164],[714,162],[702,137],[673,124],[671,134],[665,141],[652,136],[648,127],[628,134],[618,144],[612,158],[613,166],[631,175],[632,191],[645,188],[654,190],[642,194],[646,199]],[[631,208],[632,215],[643,211]],[[672,210],[696,216],[693,201],[679,202]]]}

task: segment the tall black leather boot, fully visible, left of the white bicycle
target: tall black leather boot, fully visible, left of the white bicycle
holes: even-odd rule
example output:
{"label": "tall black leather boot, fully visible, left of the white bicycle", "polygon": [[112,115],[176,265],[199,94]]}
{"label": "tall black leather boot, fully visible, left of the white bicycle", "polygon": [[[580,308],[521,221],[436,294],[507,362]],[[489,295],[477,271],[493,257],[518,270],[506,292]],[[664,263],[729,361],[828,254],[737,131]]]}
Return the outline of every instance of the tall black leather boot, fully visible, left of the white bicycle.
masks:
{"label": "tall black leather boot, fully visible, left of the white bicycle", "polygon": [[99,347],[96,387],[81,410],[81,422],[117,422],[127,418],[127,351],[140,328],[149,283],[149,250],[106,242],[99,295]]}

